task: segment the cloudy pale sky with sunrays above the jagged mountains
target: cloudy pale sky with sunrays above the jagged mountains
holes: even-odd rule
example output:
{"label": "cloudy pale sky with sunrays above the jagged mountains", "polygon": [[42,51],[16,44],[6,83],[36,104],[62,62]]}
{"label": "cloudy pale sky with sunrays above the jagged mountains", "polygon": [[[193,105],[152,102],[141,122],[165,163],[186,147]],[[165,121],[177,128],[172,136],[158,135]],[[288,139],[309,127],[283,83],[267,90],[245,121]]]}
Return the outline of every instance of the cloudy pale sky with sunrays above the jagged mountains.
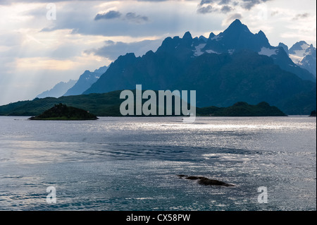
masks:
{"label": "cloudy pale sky with sunrays above the jagged mountains", "polygon": [[316,47],[316,0],[0,0],[0,105],[156,51],[166,37],[217,35],[235,19],[273,46]]}

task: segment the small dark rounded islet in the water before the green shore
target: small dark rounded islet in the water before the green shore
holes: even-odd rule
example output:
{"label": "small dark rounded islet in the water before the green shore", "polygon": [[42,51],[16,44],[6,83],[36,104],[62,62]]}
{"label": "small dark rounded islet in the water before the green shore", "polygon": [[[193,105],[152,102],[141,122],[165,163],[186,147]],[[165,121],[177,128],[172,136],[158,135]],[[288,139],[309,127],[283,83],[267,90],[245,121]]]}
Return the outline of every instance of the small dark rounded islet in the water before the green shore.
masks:
{"label": "small dark rounded islet in the water before the green shore", "polygon": [[97,120],[97,116],[90,114],[84,109],[68,107],[66,104],[55,104],[54,107],[44,111],[39,116],[32,116],[29,120],[32,121],[86,121]]}

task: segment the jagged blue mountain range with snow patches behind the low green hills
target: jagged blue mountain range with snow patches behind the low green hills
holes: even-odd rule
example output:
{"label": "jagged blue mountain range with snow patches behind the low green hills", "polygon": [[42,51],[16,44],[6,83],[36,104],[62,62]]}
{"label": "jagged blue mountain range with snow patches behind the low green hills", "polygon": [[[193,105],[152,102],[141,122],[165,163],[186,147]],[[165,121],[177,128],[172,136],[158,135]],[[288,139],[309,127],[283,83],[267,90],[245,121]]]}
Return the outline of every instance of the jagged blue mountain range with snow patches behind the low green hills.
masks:
{"label": "jagged blue mountain range with snow patches behind the low green hills", "polygon": [[262,31],[254,34],[235,20],[218,35],[193,38],[186,32],[167,37],[156,52],[119,56],[108,68],[85,71],[65,95],[134,90],[140,84],[144,90],[197,90],[197,107],[268,102],[286,114],[310,114],[316,109],[316,75],[303,65],[313,51],[316,59],[316,49],[307,45],[273,47]]}

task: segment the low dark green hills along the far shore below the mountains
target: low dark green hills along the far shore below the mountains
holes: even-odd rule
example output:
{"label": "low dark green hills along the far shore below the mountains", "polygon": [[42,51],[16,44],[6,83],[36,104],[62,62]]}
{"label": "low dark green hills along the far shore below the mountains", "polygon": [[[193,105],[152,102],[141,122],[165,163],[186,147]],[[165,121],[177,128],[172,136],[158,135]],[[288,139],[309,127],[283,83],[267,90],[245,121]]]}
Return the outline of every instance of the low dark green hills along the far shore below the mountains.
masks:
{"label": "low dark green hills along the far shore below the mountains", "polygon": [[[123,99],[118,98],[120,92],[109,92],[106,94],[78,95],[69,97],[34,99],[32,101],[15,102],[0,107],[1,116],[37,116],[44,111],[54,107],[56,104],[66,104],[69,107],[83,109],[97,116],[122,116],[120,114],[120,104]],[[135,110],[134,110],[135,111]],[[135,117],[136,115],[128,115]],[[144,114],[138,116],[145,116]],[[156,115],[161,117],[156,111]],[[182,116],[175,115],[172,109],[171,115],[162,116]],[[253,105],[247,102],[236,102],[230,107],[197,107],[196,116],[287,116],[278,107],[271,106],[267,102],[260,102]],[[54,116],[49,116],[51,118]]]}

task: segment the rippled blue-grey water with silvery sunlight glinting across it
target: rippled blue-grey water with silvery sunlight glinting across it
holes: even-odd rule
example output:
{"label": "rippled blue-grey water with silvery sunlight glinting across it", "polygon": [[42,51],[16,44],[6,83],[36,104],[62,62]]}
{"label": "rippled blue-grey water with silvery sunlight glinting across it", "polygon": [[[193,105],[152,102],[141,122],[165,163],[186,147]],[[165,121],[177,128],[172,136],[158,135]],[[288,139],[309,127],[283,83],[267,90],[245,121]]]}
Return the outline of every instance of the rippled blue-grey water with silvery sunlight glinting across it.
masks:
{"label": "rippled blue-grey water with silvery sunlight glinting across it", "polygon": [[0,116],[0,210],[316,210],[316,118]]}

